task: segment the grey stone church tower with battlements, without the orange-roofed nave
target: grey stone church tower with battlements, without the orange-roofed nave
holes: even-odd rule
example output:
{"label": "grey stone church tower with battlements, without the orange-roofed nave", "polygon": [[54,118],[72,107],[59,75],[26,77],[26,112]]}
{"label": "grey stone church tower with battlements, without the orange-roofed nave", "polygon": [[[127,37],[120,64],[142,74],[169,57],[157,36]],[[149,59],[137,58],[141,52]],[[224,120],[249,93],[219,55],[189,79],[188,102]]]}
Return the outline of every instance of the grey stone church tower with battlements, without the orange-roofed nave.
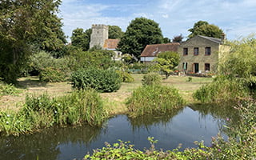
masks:
{"label": "grey stone church tower with battlements, without the orange-roofed nave", "polygon": [[104,46],[104,42],[109,38],[109,27],[106,25],[92,25],[90,34],[90,48],[99,45]]}

